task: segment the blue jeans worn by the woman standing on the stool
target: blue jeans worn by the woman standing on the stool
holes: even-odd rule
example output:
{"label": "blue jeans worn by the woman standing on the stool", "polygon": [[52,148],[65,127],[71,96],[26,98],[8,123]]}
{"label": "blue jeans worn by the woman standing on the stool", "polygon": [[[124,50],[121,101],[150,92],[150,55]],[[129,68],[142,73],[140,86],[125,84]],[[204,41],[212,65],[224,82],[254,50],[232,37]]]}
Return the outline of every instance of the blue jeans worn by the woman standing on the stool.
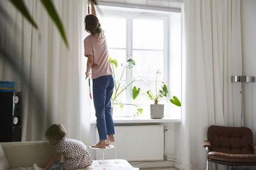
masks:
{"label": "blue jeans worn by the woman standing on the stool", "polygon": [[111,114],[111,96],[115,87],[113,75],[100,76],[93,81],[93,103],[97,117],[97,129],[100,140],[107,139],[107,135],[115,134]]}

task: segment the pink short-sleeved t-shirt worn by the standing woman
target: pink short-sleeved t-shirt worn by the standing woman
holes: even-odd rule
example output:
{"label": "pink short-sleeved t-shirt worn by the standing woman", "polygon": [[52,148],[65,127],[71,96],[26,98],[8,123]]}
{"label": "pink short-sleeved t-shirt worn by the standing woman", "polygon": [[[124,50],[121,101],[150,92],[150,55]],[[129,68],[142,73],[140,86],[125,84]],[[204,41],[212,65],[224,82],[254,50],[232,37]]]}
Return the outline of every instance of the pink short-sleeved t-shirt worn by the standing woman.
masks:
{"label": "pink short-sleeved t-shirt worn by the standing woman", "polygon": [[108,61],[108,45],[105,36],[87,36],[84,39],[84,56],[93,55],[92,78],[107,76],[112,74],[112,69]]}

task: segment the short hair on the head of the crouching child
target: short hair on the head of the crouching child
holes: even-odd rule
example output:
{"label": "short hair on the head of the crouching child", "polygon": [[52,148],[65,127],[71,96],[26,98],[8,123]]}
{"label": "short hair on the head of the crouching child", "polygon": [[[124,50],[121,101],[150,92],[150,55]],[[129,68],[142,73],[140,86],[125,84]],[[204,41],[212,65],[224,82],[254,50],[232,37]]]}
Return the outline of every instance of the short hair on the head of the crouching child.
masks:
{"label": "short hair on the head of the crouching child", "polygon": [[47,131],[45,132],[45,136],[48,139],[54,139],[56,141],[60,141],[67,134],[65,127],[61,124],[53,124],[51,125]]}

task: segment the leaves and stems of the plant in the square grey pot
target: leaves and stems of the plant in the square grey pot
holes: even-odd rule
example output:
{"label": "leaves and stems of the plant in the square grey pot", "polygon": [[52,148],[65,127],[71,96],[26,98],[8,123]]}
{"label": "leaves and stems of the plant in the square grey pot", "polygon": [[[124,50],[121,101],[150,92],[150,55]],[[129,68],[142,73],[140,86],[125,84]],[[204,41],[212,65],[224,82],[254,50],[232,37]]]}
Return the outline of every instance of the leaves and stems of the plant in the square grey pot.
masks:
{"label": "leaves and stems of the plant in the square grey pot", "polygon": [[163,85],[161,86],[161,90],[159,90],[159,92],[157,92],[157,74],[160,74],[159,70],[157,70],[157,72],[156,72],[156,94],[153,95],[151,90],[148,90],[147,95],[148,95],[149,99],[153,100],[154,104],[158,104],[159,101],[161,101],[163,99],[167,99],[172,104],[175,104],[176,106],[181,106],[181,103],[176,96],[173,96],[172,99],[170,99],[170,97],[168,96],[168,89],[167,89],[166,85],[164,84],[164,82],[163,82]]}

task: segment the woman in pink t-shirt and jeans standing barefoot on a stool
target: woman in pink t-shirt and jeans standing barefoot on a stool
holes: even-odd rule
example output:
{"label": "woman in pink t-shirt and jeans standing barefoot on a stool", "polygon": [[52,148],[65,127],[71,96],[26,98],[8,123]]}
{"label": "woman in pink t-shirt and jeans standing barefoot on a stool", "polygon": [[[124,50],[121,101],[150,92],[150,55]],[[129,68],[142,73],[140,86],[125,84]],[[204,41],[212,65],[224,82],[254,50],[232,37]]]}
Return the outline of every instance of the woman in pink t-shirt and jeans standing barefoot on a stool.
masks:
{"label": "woman in pink t-shirt and jeans standing barefoot on a stool", "polygon": [[106,148],[115,141],[111,114],[111,96],[115,87],[112,69],[108,61],[108,46],[92,4],[92,14],[84,18],[85,30],[90,33],[84,39],[84,55],[88,57],[86,78],[92,69],[93,103],[97,117],[99,143],[95,148]]}

